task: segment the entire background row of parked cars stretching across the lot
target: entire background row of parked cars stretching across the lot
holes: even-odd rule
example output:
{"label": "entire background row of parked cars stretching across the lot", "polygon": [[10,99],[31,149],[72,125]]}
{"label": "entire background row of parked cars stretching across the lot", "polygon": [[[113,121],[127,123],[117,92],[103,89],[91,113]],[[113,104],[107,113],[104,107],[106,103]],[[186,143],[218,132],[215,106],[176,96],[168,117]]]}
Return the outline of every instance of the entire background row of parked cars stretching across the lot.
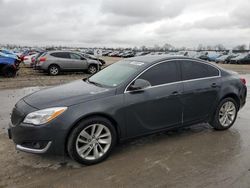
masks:
{"label": "entire background row of parked cars stretching across the lot", "polygon": [[[58,75],[64,71],[87,71],[90,74],[94,74],[105,65],[104,60],[92,55],[93,49],[79,51],[73,49],[50,51],[44,49],[28,49],[22,53],[20,51],[14,53],[10,50],[0,49],[0,53],[0,74],[8,77],[16,75],[21,62],[28,67],[42,70],[50,75]],[[136,52],[133,50],[103,50],[102,55],[121,58],[145,55],[178,55],[216,63],[250,64],[250,54],[233,54],[216,51]]]}

